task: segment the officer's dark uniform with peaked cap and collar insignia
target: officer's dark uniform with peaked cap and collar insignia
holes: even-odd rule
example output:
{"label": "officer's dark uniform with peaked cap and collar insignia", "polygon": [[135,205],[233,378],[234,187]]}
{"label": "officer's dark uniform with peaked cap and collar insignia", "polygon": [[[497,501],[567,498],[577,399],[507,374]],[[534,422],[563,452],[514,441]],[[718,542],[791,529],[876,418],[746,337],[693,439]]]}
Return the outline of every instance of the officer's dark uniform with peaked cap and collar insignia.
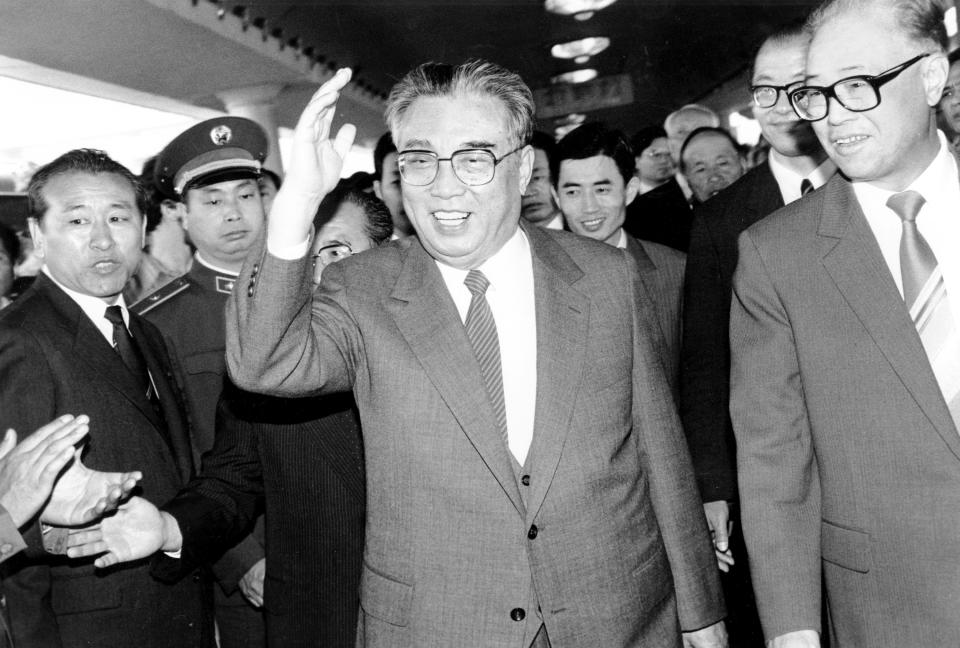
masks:
{"label": "officer's dark uniform with peaked cap and collar insignia", "polygon": [[[183,200],[190,188],[242,177],[256,177],[266,157],[267,139],[256,123],[239,117],[207,120],[188,129],[157,157],[155,182],[169,197]],[[214,445],[217,403],[229,391],[224,361],[224,307],[236,275],[204,264],[202,250],[189,272],[147,295],[131,310],[150,321],[167,343],[175,374],[187,401],[194,461]],[[260,648],[263,616],[239,590],[247,571],[264,558],[263,519],[253,532],[211,565],[216,619],[222,648]]]}

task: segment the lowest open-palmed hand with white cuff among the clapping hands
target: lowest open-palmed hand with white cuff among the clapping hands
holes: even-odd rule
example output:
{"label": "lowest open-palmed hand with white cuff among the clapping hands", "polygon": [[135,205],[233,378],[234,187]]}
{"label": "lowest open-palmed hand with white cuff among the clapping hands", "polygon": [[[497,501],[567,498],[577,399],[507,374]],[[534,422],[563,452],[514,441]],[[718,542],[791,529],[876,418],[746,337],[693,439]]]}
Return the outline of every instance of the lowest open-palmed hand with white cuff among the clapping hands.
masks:
{"label": "lowest open-palmed hand with white cuff among the clapping hands", "polygon": [[146,558],[161,549],[179,550],[180,542],[179,526],[169,514],[161,513],[142,497],[131,497],[99,524],[70,531],[67,555],[83,558],[104,554],[93,563],[103,568]]}

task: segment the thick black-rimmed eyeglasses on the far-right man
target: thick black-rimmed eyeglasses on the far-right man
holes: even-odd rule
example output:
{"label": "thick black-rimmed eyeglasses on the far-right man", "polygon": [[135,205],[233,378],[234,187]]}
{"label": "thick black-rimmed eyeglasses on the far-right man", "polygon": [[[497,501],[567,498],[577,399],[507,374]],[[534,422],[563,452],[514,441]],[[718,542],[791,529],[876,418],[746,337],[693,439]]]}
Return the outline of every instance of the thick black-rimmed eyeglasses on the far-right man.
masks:
{"label": "thick black-rimmed eyeglasses on the far-right man", "polygon": [[803,86],[791,90],[790,104],[797,116],[806,121],[820,121],[826,117],[830,111],[831,97],[851,112],[873,110],[880,105],[881,86],[893,81],[901,72],[930,54],[927,52],[914,56],[876,76],[858,75],[840,79],[829,86]]}

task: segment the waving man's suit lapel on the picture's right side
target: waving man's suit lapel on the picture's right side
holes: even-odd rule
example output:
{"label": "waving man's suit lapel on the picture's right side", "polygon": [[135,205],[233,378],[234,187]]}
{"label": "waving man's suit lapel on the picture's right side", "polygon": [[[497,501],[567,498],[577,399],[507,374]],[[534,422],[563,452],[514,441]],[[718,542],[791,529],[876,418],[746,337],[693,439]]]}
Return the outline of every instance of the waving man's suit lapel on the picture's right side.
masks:
{"label": "waving man's suit lapel on the picture's right side", "polygon": [[537,314],[537,405],[530,448],[532,479],[527,518],[546,497],[570,429],[586,365],[590,300],[573,285],[583,271],[552,238],[525,227],[533,254]]}

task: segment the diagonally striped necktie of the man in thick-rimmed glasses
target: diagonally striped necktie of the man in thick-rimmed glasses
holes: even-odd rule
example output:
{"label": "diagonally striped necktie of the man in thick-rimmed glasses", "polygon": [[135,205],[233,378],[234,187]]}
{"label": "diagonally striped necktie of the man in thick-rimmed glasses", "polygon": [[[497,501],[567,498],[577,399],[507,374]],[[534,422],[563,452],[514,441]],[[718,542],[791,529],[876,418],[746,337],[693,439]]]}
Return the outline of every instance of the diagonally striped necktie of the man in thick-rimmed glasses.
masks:
{"label": "diagonally striped necktie of the man in thick-rimmed glasses", "polygon": [[916,191],[894,194],[887,200],[903,221],[900,235],[900,274],[903,299],[917,327],[930,366],[960,430],[960,333],[953,321],[943,272],[937,257],[917,229],[917,215],[925,199]]}

